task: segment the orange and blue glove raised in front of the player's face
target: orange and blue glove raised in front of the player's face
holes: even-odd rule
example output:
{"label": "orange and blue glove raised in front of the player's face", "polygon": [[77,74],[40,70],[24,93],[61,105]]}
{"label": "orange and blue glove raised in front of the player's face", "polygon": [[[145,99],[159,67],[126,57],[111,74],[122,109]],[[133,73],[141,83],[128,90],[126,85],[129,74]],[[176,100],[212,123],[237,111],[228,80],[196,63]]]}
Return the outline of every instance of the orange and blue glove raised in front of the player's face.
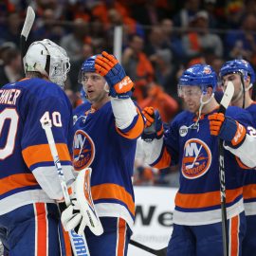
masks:
{"label": "orange and blue glove raised in front of the player's face", "polygon": [[134,82],[126,76],[124,69],[113,55],[103,51],[95,60],[95,69],[98,74],[105,77],[111,97],[127,99],[132,96]]}

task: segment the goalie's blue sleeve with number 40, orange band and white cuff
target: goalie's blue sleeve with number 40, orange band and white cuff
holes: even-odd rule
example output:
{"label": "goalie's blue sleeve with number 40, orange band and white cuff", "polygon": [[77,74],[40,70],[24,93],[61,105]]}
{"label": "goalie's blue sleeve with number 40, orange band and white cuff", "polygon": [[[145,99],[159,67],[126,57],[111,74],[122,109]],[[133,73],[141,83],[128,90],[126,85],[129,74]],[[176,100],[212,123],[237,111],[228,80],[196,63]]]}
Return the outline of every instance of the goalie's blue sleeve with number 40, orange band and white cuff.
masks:
{"label": "goalie's blue sleeve with number 40, orange band and white cuff", "polygon": [[71,147],[72,110],[64,94],[33,97],[27,105],[27,116],[21,141],[27,167],[51,199],[63,198],[58,173],[40,119],[50,119],[52,133],[67,183],[73,180],[69,149]]}

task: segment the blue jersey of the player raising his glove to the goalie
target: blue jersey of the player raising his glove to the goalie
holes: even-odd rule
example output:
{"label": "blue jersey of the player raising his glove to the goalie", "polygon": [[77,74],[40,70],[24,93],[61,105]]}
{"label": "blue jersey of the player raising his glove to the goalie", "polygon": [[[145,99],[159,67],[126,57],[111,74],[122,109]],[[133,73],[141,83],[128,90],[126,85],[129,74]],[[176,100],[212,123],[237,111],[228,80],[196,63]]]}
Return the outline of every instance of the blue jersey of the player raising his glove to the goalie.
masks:
{"label": "blue jersey of the player raising his glove to the goalie", "polygon": [[74,113],[74,169],[92,168],[91,192],[99,216],[121,217],[131,229],[135,218],[134,159],[137,137],[144,126],[137,113],[122,131],[116,127],[110,101],[98,110],[84,103]]}

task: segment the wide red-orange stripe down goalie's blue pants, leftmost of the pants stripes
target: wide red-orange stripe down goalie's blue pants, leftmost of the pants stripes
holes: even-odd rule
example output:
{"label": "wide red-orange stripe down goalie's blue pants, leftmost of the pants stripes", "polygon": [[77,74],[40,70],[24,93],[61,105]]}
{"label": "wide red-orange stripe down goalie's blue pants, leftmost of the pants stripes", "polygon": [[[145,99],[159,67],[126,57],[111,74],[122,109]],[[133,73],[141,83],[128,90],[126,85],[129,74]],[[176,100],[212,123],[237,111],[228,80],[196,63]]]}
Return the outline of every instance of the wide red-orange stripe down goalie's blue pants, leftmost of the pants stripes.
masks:
{"label": "wide red-orange stripe down goalie's blue pants, leftmost of the pants stripes", "polygon": [[47,224],[46,224],[46,204],[36,203],[36,218],[37,218],[37,255],[47,255]]}

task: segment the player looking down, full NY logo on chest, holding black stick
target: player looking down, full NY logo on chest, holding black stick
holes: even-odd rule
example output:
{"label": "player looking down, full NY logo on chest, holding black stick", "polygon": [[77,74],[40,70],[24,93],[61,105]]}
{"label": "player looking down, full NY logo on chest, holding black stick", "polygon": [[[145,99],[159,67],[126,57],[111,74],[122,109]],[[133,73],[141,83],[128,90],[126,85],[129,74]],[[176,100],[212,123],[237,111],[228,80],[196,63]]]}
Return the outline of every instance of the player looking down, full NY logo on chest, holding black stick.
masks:
{"label": "player looking down, full NY logo on chest, holding black stick", "polygon": [[[148,125],[155,123],[154,134],[143,134],[145,159],[162,169],[180,166],[180,188],[175,197],[174,230],[168,255],[223,255],[222,218],[220,206],[219,155],[217,137],[210,135],[209,116],[218,111],[213,95],[217,78],[210,65],[195,64],[179,79],[178,92],[187,106],[160,136],[161,120],[153,119],[154,109],[145,108]],[[223,126],[224,140],[239,146],[246,137],[250,116],[240,108],[230,107],[227,116],[240,122]],[[228,119],[228,118],[227,118]],[[243,125],[242,125],[243,124]],[[237,133],[239,132],[239,139]],[[152,140],[149,142],[149,140]],[[225,150],[229,255],[242,255],[245,235],[245,212],[241,168],[235,155]],[[243,159],[242,159],[243,160]]]}

